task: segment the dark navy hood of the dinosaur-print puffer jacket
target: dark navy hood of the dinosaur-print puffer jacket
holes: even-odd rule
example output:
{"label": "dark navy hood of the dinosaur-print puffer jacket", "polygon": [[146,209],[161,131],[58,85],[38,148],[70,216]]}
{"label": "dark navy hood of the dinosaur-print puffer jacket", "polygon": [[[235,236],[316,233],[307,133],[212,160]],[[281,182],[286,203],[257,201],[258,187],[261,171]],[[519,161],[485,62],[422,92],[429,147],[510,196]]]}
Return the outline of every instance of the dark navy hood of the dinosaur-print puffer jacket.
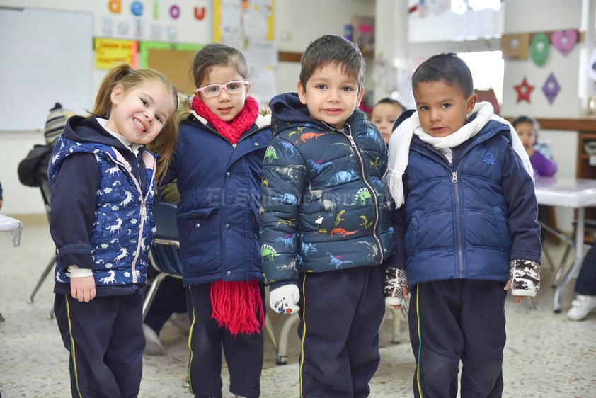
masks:
{"label": "dark navy hood of the dinosaur-print puffer jacket", "polygon": [[[309,123],[311,125],[319,125],[324,130],[329,130],[329,127],[321,120],[311,118],[309,108],[300,102],[298,93],[282,93],[273,97],[269,103],[273,116],[271,118],[271,131],[273,136],[279,134],[282,130],[290,125],[304,125]],[[354,113],[348,118],[348,123],[354,125],[355,123],[364,120],[365,114],[360,109],[355,109]]]}

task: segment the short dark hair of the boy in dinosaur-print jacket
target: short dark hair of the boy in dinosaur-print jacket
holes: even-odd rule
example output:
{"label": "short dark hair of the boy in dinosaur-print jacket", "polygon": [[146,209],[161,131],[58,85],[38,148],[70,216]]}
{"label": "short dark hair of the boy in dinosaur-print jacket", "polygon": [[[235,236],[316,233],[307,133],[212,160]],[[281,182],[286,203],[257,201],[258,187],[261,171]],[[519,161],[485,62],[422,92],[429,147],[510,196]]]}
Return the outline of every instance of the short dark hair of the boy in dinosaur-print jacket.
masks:
{"label": "short dark hair of the boy in dinosaur-print jacket", "polygon": [[321,67],[327,64],[342,67],[343,73],[353,77],[358,86],[365,84],[365,59],[353,42],[336,35],[323,35],[311,42],[300,60],[300,83],[306,90],[306,81]]}

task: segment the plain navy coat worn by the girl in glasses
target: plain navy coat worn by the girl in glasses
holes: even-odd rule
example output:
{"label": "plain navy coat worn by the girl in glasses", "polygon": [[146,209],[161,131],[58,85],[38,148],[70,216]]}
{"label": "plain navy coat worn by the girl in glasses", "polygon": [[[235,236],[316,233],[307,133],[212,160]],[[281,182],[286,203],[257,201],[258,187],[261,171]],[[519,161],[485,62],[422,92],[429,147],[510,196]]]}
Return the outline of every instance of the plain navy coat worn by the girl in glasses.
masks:
{"label": "plain navy coat worn by the girl in glasses", "polygon": [[259,116],[231,144],[193,113],[180,123],[164,183],[177,180],[178,232],[185,286],[216,280],[263,280],[258,195],[263,155],[271,140]]}

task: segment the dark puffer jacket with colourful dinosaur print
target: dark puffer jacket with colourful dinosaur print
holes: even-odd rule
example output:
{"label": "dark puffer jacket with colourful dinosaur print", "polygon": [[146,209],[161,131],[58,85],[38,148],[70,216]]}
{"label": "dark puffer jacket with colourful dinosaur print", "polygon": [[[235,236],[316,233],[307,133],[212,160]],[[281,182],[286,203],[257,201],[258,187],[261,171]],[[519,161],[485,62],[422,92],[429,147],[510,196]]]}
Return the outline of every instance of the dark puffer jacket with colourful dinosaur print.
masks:
{"label": "dark puffer jacket with colourful dinosaur print", "polygon": [[312,119],[295,93],[275,96],[270,107],[259,215],[265,282],[275,288],[298,273],[383,264],[396,239],[377,127],[355,110],[343,131],[333,129]]}

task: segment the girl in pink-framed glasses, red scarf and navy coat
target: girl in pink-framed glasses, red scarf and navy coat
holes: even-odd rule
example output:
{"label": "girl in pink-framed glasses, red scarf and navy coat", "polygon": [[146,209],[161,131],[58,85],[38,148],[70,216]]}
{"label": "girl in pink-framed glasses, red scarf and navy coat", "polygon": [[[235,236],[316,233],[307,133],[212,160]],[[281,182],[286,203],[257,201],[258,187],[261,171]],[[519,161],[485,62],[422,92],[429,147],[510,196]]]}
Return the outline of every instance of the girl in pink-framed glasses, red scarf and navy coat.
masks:
{"label": "girl in pink-framed glasses, red scarf and navy coat", "polygon": [[270,117],[248,96],[246,59],[222,44],[193,60],[195,96],[164,182],[178,181],[178,229],[190,315],[190,392],[222,397],[222,348],[232,394],[260,395],[265,324],[258,195]]}

